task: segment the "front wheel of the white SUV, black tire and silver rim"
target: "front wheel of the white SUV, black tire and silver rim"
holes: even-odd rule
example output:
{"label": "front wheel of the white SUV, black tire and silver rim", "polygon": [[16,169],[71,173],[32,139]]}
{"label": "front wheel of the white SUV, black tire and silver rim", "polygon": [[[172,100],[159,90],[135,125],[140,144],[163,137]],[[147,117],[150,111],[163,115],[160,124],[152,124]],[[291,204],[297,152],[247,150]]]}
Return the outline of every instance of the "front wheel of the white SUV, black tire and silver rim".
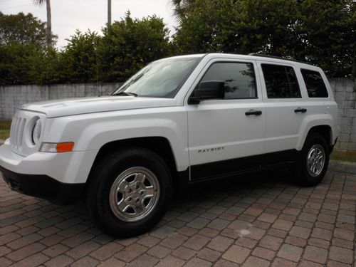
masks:
{"label": "front wheel of the white SUV, black tire and silver rim", "polygon": [[167,210],[172,177],[155,152],[133,148],[102,159],[90,174],[87,206],[111,236],[130,237],[152,229]]}

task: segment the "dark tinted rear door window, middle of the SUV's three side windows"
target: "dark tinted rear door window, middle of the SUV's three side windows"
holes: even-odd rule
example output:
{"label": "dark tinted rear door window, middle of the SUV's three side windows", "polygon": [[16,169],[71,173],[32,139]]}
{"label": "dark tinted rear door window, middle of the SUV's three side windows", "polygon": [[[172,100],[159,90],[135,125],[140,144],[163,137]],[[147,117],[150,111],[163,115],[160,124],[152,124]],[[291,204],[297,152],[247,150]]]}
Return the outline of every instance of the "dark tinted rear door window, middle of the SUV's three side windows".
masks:
{"label": "dark tinted rear door window, middle of the SUV's three side windows", "polygon": [[292,67],[261,64],[268,98],[301,98],[297,76]]}

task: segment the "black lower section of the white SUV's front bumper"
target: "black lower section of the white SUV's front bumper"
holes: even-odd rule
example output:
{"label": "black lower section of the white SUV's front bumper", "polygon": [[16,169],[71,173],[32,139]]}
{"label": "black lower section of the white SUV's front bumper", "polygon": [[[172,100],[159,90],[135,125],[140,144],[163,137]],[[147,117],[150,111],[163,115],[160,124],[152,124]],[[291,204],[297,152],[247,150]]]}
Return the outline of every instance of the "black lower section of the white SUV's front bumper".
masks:
{"label": "black lower section of the white SUV's front bumper", "polygon": [[4,181],[21,194],[47,199],[54,204],[72,204],[80,199],[85,184],[66,184],[47,175],[19,174],[0,166]]}

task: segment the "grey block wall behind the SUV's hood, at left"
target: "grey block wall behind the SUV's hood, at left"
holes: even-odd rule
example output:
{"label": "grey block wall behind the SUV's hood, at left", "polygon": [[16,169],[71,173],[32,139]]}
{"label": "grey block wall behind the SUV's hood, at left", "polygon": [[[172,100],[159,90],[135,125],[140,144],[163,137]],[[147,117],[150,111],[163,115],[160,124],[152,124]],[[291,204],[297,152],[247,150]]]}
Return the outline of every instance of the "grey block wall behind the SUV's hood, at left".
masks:
{"label": "grey block wall behind the SUV's hood, at left", "polygon": [[108,95],[121,83],[0,86],[0,120],[11,120],[21,105],[63,98]]}

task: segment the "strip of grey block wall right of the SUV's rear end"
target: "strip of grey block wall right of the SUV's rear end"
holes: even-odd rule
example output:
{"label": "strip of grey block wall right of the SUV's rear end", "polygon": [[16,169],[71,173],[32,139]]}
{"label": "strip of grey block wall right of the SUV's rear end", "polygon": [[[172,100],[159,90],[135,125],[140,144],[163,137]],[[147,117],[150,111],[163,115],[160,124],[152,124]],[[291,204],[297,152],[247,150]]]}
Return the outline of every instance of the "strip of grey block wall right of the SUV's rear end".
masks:
{"label": "strip of grey block wall right of the SUV's rear end", "polygon": [[332,78],[329,82],[339,107],[335,155],[356,159],[356,80]]}

